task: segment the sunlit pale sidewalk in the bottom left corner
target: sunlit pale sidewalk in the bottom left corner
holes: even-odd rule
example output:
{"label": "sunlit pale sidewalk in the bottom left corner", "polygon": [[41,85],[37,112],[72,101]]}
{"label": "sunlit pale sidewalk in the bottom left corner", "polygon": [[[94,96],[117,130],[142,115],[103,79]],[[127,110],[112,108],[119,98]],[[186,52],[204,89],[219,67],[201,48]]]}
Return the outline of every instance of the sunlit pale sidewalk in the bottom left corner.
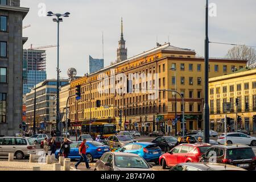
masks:
{"label": "sunlit pale sidewalk in the bottom left corner", "polygon": [[[32,171],[33,167],[39,166],[41,171],[53,171],[53,164],[0,161],[0,171]],[[63,171],[63,166],[61,166],[61,171]],[[71,171],[76,171],[76,169],[71,166]]]}

